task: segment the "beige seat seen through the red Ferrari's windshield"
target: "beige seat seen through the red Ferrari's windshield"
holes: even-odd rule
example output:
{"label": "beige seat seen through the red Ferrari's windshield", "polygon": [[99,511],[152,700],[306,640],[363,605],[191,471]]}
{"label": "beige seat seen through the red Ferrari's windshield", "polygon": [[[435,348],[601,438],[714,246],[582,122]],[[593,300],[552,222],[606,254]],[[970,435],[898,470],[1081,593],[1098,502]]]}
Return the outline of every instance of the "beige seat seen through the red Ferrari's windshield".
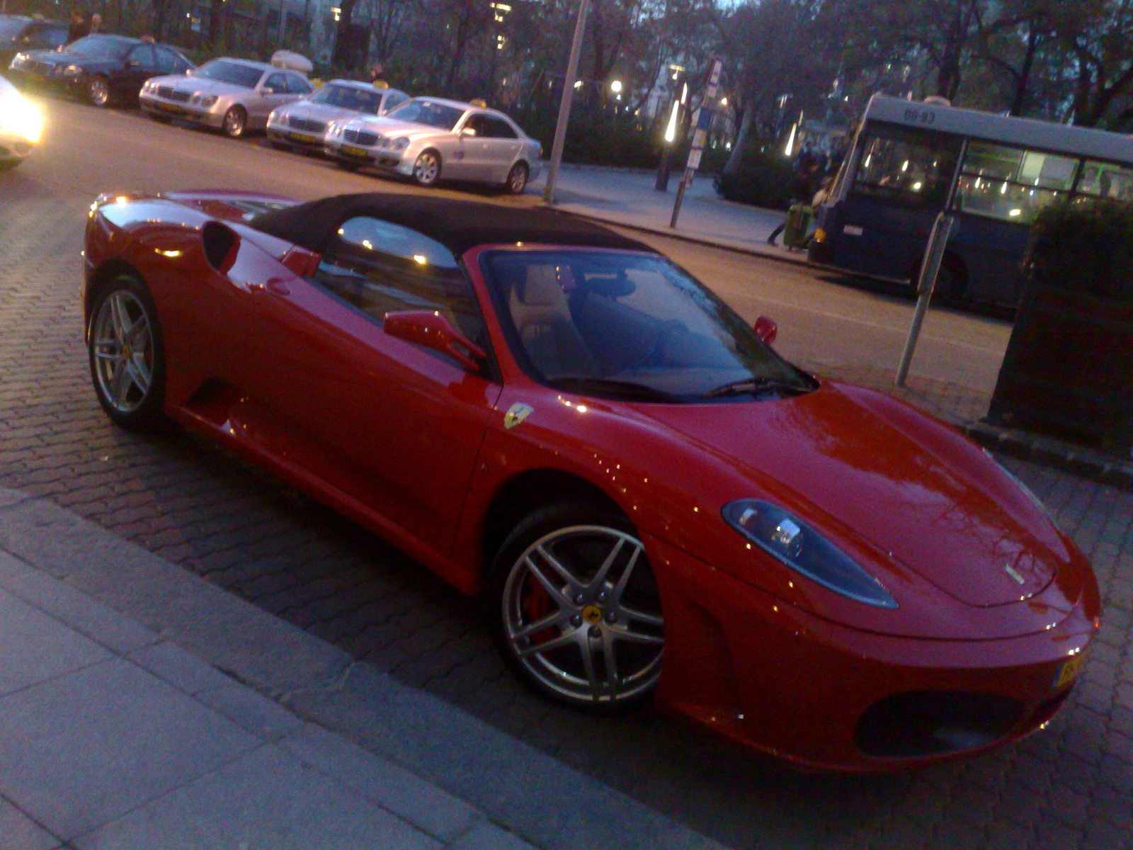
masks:
{"label": "beige seat seen through the red Ferrari's windshield", "polygon": [[544,376],[598,374],[574,328],[554,265],[529,265],[526,279],[512,287],[508,306],[527,356]]}

